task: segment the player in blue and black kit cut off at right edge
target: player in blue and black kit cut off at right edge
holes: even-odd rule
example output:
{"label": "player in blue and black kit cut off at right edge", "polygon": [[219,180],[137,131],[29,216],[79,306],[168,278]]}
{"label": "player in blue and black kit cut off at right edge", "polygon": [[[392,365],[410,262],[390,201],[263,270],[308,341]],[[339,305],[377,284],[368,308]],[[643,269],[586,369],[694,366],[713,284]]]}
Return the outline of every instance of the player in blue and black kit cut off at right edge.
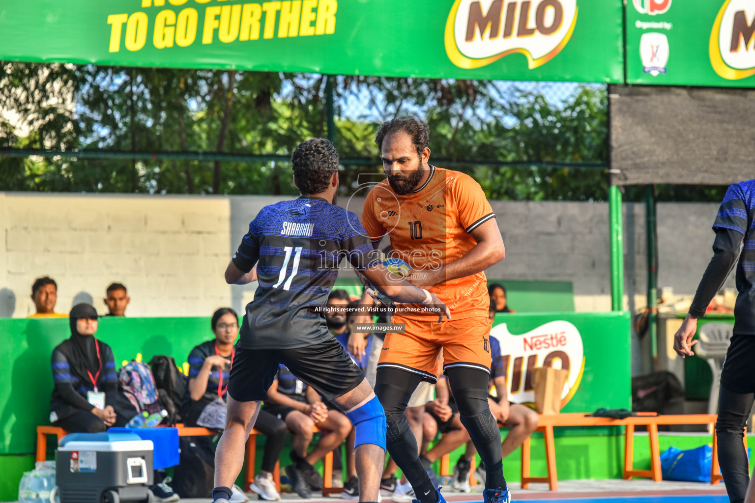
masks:
{"label": "player in blue and black kit cut off at right edge", "polygon": [[[692,356],[698,318],[736,267],[737,302],[734,329],[721,373],[716,434],[718,459],[726,492],[732,503],[744,501],[749,482],[747,452],[742,436],[755,394],[755,179],[735,183],[726,191],[713,223],[713,258],[705,270],[695,299],[673,348],[681,357]],[[755,501],[747,494],[747,501]]]}

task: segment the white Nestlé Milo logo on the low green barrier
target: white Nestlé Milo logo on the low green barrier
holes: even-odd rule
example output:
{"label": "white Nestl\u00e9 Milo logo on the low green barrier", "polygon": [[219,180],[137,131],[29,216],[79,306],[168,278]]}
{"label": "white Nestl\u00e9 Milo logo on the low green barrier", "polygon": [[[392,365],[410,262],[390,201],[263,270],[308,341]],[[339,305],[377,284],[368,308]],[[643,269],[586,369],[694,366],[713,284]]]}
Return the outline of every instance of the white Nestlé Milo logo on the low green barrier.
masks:
{"label": "white Nestl\u00e9 Milo logo on the low green barrier", "polygon": [[514,335],[504,323],[493,327],[490,336],[501,342],[510,401],[535,403],[532,383],[535,367],[569,371],[561,394],[561,406],[565,406],[577,392],[584,372],[584,348],[582,336],[573,324],[550,321],[528,333]]}

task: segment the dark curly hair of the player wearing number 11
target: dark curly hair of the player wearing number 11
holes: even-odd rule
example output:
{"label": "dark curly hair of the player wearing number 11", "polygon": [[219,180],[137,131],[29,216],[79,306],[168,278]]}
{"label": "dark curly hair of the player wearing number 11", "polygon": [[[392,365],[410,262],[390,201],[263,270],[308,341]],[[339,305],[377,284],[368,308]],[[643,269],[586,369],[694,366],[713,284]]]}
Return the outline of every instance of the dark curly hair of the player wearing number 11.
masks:
{"label": "dark curly hair of the player wearing number 11", "polygon": [[314,138],[297,146],[291,163],[301,195],[319,194],[328,188],[331,176],[338,170],[338,152],[328,140]]}

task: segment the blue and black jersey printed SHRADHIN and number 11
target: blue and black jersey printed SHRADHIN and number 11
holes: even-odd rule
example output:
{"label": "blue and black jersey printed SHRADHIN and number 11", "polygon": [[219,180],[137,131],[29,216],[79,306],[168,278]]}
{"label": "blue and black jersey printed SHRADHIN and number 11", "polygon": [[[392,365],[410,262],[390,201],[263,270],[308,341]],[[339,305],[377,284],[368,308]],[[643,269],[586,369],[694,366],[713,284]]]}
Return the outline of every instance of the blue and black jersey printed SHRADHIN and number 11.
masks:
{"label": "blue and black jersey printed SHRADHIN and number 11", "polygon": [[239,347],[303,348],[330,339],[316,308],[327,302],[344,258],[360,271],[380,263],[356,214],[310,196],[264,207],[233,255],[242,271],[256,264],[259,281]]}

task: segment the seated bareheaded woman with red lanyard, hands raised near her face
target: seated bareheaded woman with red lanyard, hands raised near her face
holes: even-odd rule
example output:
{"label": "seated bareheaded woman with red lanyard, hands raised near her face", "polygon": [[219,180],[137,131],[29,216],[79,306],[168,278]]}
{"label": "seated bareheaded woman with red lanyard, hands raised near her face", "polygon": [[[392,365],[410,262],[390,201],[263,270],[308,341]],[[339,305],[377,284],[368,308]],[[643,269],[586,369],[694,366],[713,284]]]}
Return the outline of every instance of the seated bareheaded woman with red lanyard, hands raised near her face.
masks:
{"label": "seated bareheaded woman with red lanyard, hands raised near her face", "polygon": [[[236,354],[233,343],[239,335],[239,317],[231,308],[220,308],[212,314],[211,327],[215,339],[202,342],[189,354],[189,386],[181,410],[186,426],[222,428],[225,424],[224,400],[231,362]],[[222,417],[217,417],[220,415]],[[265,435],[266,440],[260,473],[254,477],[249,489],[257,492],[260,498],[275,501],[280,499],[280,495],[273,480],[273,471],[288,430],[282,420],[264,410],[260,410],[254,429]]]}

